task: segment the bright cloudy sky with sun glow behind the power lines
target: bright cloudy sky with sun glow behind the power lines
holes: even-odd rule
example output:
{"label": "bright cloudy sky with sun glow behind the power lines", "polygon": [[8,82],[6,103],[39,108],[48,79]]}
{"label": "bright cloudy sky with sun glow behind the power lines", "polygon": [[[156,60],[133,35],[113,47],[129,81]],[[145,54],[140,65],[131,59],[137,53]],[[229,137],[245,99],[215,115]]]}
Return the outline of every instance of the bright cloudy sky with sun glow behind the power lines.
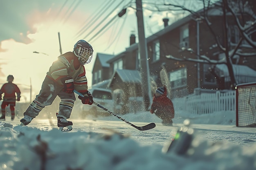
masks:
{"label": "bright cloudy sky with sun glow behind the power lines", "polygon": [[[163,18],[169,18],[169,24],[177,20],[172,11],[157,11],[155,5],[164,2],[179,3],[175,0],[142,2],[146,37],[164,28]],[[191,0],[186,2],[188,6],[195,5]],[[116,17],[126,7],[126,14]],[[129,47],[131,33],[138,37],[135,7],[135,0],[0,1],[0,83],[7,82],[11,74],[13,83],[21,88],[21,102],[28,97],[30,86],[34,97],[52,62],[84,39],[94,49],[92,61],[85,65],[90,88],[97,53],[116,55]]]}

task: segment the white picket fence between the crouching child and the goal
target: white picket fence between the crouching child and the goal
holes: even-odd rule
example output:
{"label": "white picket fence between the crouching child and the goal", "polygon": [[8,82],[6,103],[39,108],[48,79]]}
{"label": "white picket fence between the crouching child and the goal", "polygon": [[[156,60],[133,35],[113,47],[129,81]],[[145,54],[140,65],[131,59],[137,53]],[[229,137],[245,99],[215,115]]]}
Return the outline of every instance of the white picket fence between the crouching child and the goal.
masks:
{"label": "white picket fence between the crouching child and the goal", "polygon": [[190,95],[185,99],[185,110],[194,114],[208,114],[236,109],[236,91],[216,91]]}

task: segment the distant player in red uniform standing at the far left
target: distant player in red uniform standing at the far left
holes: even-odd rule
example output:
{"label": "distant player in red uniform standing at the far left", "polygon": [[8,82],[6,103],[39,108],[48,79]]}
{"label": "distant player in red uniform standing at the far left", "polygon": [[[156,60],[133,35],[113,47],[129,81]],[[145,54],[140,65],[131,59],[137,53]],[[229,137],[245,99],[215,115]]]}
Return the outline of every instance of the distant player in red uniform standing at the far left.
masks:
{"label": "distant player in red uniform standing at the far left", "polygon": [[16,84],[13,84],[13,75],[8,75],[7,81],[8,83],[5,83],[2,85],[2,88],[0,90],[0,100],[2,100],[2,93],[4,93],[4,101],[1,105],[1,111],[2,116],[0,117],[0,120],[5,120],[5,108],[6,106],[10,105],[11,110],[11,120],[13,121],[15,117],[15,109],[14,106],[16,105],[16,95],[17,94],[17,101],[20,101],[20,89]]}

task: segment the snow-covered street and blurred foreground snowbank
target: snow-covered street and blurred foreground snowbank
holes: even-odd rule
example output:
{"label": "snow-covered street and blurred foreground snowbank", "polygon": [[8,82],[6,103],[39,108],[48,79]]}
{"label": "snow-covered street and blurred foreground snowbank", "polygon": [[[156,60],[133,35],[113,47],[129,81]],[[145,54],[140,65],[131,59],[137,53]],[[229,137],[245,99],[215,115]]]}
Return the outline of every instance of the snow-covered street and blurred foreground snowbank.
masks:
{"label": "snow-covered street and blurred foreground snowbank", "polygon": [[[255,128],[236,127],[235,111],[191,115],[177,102],[174,126],[163,126],[150,112],[121,115],[136,126],[156,124],[145,131],[111,115],[79,119],[74,113],[70,132],[58,130],[56,117],[19,126],[18,117],[6,116],[0,121],[0,170],[256,169]],[[184,133],[177,136],[180,128]]]}

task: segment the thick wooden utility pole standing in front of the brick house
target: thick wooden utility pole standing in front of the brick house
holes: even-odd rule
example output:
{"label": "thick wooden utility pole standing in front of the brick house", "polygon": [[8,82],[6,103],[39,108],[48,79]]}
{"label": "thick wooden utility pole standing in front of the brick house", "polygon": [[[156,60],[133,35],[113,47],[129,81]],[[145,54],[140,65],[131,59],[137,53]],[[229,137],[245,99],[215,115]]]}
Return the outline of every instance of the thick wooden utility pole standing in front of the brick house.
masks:
{"label": "thick wooden utility pole standing in front of the brick house", "polygon": [[[144,103],[152,103],[151,90],[149,88],[149,67],[148,67],[148,50],[145,39],[144,32],[144,20],[142,11],[141,0],[136,0],[136,15],[138,24],[138,34],[139,34],[139,54],[141,59],[141,90],[144,98]],[[150,105],[149,105],[150,106]],[[148,109],[148,108],[146,108]]]}

